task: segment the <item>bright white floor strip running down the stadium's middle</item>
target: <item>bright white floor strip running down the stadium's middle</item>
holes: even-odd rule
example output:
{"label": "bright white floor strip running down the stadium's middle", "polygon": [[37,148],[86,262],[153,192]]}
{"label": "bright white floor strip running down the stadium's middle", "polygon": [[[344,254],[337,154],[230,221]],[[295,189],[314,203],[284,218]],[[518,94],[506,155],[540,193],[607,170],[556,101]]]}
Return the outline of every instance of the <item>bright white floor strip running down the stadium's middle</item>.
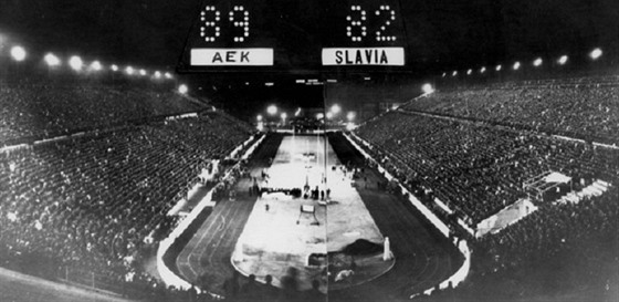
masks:
{"label": "bright white floor strip running down the stadium's middle", "polygon": [[[324,137],[284,137],[267,169],[267,181],[272,188],[303,188],[306,183],[311,188],[328,187],[334,202],[321,206],[312,199],[293,199],[283,194],[259,198],[232,254],[233,265],[243,274],[253,273],[259,280],[271,274],[273,284],[279,285],[279,277],[294,267],[300,270],[301,287],[308,289],[323,269],[306,267],[310,254],[339,251],[357,239],[382,243],[382,235],[350,185],[350,174],[345,175],[339,168],[332,170],[340,163],[328,143],[327,186],[322,181],[325,175],[324,144]],[[314,206],[319,225],[312,225],[312,215],[304,214],[300,218],[302,205]]]}

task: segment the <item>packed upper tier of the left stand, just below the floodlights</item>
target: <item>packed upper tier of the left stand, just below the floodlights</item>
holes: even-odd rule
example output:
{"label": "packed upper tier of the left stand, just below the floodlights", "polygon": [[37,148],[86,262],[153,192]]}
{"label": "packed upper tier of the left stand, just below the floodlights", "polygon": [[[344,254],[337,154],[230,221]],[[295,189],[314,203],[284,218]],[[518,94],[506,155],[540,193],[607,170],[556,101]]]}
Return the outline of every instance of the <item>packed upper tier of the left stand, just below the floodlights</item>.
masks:
{"label": "packed upper tier of the left stand, just below the floodlights", "polygon": [[200,110],[202,104],[169,91],[0,84],[0,146],[22,137],[48,138]]}

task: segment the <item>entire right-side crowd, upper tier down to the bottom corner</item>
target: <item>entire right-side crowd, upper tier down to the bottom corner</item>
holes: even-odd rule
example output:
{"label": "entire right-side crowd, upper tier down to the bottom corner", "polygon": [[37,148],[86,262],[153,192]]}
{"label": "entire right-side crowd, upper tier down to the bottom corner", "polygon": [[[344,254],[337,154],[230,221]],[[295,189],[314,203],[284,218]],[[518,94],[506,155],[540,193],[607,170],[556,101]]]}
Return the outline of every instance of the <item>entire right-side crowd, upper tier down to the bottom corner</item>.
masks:
{"label": "entire right-side crowd, upper tier down to the bottom corner", "polygon": [[[616,81],[529,81],[439,92],[356,131],[370,144],[366,149],[411,191],[440,199],[472,227],[525,197],[523,183],[545,171],[571,177],[574,190],[595,179],[610,184],[608,191],[578,204],[534,200],[538,209],[529,216],[497,233],[470,238],[466,281],[428,300],[616,298],[619,150],[590,143],[619,142]],[[450,216],[439,217],[457,229]]]}

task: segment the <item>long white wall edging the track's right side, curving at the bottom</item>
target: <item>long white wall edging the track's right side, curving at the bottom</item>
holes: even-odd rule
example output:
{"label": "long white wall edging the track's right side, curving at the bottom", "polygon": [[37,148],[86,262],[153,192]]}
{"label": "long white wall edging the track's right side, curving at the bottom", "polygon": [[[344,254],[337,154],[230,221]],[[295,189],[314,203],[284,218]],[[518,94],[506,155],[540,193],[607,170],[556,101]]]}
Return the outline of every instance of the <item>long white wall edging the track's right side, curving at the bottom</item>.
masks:
{"label": "long white wall edging the track's right side, curving at the bottom", "polygon": [[[368,160],[371,160],[373,163],[376,164],[376,166],[378,167],[378,171],[380,174],[382,174],[385,176],[385,178],[387,178],[387,180],[392,180],[395,179],[397,181],[397,179],[389,173],[387,171],[387,169],[385,169],[380,163],[378,163],[376,159],[374,159],[368,153],[366,153],[364,150],[364,148],[361,148],[356,142],[355,139],[350,138],[350,136],[355,136],[356,139],[358,139],[359,142],[363,142],[364,145],[369,146],[369,143],[365,142],[363,138],[358,137],[355,134],[344,134],[344,137],[346,137],[346,139],[348,139],[348,142],[357,149],[359,150],[359,153]],[[417,210],[419,210],[424,217],[426,219],[428,219],[430,221],[430,223],[432,223],[445,238],[452,239],[451,243],[455,246],[455,248],[460,251],[460,253],[462,253],[462,256],[464,257],[464,261],[462,263],[462,265],[460,267],[460,269],[458,269],[458,271],[455,273],[453,273],[450,278],[448,278],[447,280],[442,281],[439,284],[439,289],[444,290],[447,288],[455,288],[458,287],[458,284],[460,284],[462,281],[464,281],[464,279],[466,279],[466,275],[469,275],[469,271],[471,269],[471,250],[469,249],[469,243],[466,242],[466,240],[461,240],[459,238],[452,238],[450,237],[450,230],[449,227],[441,220],[439,219],[430,209],[428,209],[423,204],[421,204],[421,201],[419,201],[419,199],[417,199],[415,197],[415,195],[412,195],[405,186],[402,186],[399,181],[398,186],[401,189],[401,192],[405,194],[406,196],[408,196],[408,200],[415,206],[415,208],[417,208]],[[431,288],[426,290],[423,293],[424,294],[431,294],[436,289]],[[415,298],[417,295],[411,295],[410,298]]]}

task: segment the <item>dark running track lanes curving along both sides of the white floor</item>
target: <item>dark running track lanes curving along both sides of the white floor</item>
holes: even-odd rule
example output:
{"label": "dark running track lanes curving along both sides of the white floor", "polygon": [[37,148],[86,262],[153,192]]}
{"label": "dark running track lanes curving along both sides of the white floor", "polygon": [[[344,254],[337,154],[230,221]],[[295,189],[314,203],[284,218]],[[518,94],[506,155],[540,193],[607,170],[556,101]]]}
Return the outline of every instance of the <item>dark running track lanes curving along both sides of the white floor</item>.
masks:
{"label": "dark running track lanes curving along both sides of the white floor", "polygon": [[[279,135],[267,137],[250,165],[253,175],[267,166],[280,142]],[[342,163],[363,165],[360,154],[343,136],[332,137],[329,142]],[[412,293],[437,285],[460,268],[462,260],[451,244],[410,204],[376,189],[376,183],[384,180],[377,171],[366,168],[365,176],[368,187],[361,179],[357,189],[382,235],[390,238],[396,265],[368,283],[329,292],[329,301],[403,301]],[[255,202],[255,197],[248,195],[249,185],[250,180],[240,181],[237,201],[219,202],[181,251],[177,267],[182,278],[223,293],[221,284],[233,271],[231,253]]]}

